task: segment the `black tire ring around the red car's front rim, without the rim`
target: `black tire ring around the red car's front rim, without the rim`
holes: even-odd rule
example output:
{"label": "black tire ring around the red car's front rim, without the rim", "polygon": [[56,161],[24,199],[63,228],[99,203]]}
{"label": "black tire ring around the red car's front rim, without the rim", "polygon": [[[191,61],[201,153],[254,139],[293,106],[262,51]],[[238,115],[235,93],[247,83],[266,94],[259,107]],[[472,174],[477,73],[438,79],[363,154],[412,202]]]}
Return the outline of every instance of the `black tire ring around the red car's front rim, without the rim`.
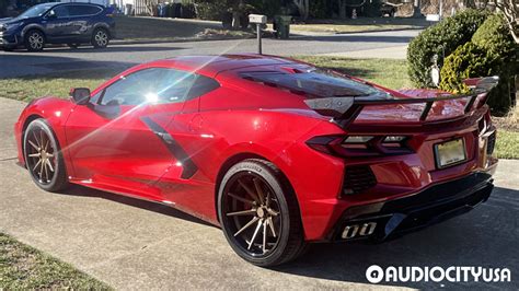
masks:
{"label": "black tire ring around the red car's front rim, without the rim", "polygon": [[[47,133],[47,137],[49,137],[49,140],[50,140],[51,147],[55,149],[55,152],[57,154],[56,165],[55,165],[56,173],[49,184],[39,183],[38,178],[35,177],[35,175],[33,174],[33,171],[30,168],[30,165],[28,165],[27,147],[31,147],[31,146],[27,144],[27,136],[32,135],[31,133],[32,130],[36,128],[42,129],[43,131],[45,131],[45,133]],[[56,191],[64,188],[64,185],[66,184],[66,179],[67,179],[67,174],[66,174],[64,159],[61,155],[59,143],[50,126],[42,118],[31,121],[31,124],[28,124],[27,128],[25,129],[25,133],[23,135],[22,144],[23,144],[23,156],[25,159],[25,166],[27,167],[28,174],[31,175],[31,178],[33,179],[33,182],[39,188],[47,191]]]}

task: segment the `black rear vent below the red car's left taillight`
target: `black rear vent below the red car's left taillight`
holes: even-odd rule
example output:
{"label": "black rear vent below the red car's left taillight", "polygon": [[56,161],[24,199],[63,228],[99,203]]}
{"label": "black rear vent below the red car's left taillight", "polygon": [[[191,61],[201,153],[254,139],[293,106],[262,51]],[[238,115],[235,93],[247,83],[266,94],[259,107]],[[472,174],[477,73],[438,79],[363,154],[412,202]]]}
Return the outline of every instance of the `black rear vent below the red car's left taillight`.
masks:
{"label": "black rear vent below the red car's left taillight", "polygon": [[347,166],[344,174],[344,195],[360,194],[377,185],[371,167],[368,165]]}

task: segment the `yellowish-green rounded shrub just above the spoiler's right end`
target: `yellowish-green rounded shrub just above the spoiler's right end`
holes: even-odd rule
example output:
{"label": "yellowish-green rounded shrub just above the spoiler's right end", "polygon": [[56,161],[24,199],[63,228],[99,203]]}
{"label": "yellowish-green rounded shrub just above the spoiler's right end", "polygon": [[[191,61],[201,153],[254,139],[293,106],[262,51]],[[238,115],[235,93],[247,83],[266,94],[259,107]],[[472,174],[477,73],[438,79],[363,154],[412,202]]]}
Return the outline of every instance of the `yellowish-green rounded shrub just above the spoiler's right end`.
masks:
{"label": "yellowish-green rounded shrub just above the spoiler's right end", "polygon": [[[473,43],[458,47],[448,56],[441,68],[440,89],[453,93],[468,93],[469,88],[463,84],[468,78],[499,75],[505,62],[498,55]],[[508,77],[500,75],[501,80],[488,96],[488,105],[494,114],[504,114],[510,107],[510,82]]]}

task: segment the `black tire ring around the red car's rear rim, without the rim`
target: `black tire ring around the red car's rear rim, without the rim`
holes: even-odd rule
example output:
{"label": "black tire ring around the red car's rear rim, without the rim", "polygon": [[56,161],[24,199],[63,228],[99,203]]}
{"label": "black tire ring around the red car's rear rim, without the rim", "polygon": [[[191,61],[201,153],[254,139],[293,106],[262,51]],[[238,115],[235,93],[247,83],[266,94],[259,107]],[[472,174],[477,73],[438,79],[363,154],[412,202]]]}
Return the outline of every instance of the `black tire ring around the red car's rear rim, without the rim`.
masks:
{"label": "black tire ring around the red car's rear rim, without the rim", "polygon": [[[266,256],[251,256],[245,251],[242,249],[240,245],[235,242],[234,236],[230,233],[229,226],[227,224],[227,219],[223,219],[222,207],[223,207],[223,194],[227,193],[228,182],[237,174],[242,172],[250,172],[262,177],[274,190],[276,198],[278,199],[279,210],[281,212],[281,232],[280,238],[276,248],[273,252],[268,252]],[[274,266],[279,263],[279,259],[284,256],[285,248],[288,245],[289,235],[290,235],[290,212],[286,196],[284,194],[284,187],[281,182],[276,177],[276,174],[273,171],[261,163],[253,161],[244,161],[232,166],[227,174],[223,176],[220,187],[218,190],[218,217],[221,223],[221,228],[226,235],[227,241],[231,245],[232,249],[243,259],[256,265],[256,266]]]}

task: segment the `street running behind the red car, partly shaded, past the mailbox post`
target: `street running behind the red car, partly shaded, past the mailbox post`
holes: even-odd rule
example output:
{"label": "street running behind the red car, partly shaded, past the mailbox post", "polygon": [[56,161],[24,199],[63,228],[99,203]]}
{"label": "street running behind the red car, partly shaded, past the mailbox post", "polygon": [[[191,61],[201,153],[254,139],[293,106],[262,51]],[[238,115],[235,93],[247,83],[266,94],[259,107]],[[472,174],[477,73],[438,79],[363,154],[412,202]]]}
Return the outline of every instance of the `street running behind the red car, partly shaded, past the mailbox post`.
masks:
{"label": "street running behind the red car, partly shaded, past the mailbox post", "polygon": [[[419,31],[299,36],[288,40],[264,39],[263,53],[280,56],[337,55],[351,57],[405,58],[406,45]],[[116,45],[105,49],[48,48],[43,53],[0,51],[0,78],[45,74],[53,71],[127,67],[180,55],[256,53],[255,39]]]}

